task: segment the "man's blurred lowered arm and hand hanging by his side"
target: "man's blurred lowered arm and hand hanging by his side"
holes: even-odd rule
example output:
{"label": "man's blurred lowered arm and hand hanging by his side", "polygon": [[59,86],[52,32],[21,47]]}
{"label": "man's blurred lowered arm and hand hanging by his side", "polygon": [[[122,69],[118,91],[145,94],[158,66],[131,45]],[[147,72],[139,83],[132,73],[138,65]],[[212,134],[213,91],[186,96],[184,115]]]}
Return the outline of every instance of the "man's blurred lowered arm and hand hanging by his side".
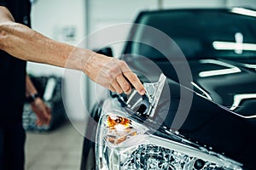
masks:
{"label": "man's blurred lowered arm and hand hanging by his side", "polygon": [[[31,98],[31,96],[35,96],[35,94],[38,94],[38,90],[34,87],[30,77],[26,75],[26,98]],[[44,103],[44,100],[40,97],[33,97],[30,104],[32,111],[38,117],[37,124],[39,126],[44,124],[49,125],[51,113],[49,106]]]}

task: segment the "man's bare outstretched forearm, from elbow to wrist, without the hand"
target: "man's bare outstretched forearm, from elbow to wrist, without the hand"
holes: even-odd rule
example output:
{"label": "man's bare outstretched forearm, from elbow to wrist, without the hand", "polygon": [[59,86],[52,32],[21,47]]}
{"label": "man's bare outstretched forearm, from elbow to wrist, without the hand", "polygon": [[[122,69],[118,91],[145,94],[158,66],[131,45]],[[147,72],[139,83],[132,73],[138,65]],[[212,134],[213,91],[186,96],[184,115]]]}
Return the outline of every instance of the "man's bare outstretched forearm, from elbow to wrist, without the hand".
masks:
{"label": "man's bare outstretched forearm, from elbow to wrist, without the hand", "polygon": [[[3,22],[0,25],[0,31],[0,48],[19,59],[67,66],[82,71],[86,59],[94,54],[88,49],[55,42],[15,22]],[[68,65],[66,65],[67,59]]]}

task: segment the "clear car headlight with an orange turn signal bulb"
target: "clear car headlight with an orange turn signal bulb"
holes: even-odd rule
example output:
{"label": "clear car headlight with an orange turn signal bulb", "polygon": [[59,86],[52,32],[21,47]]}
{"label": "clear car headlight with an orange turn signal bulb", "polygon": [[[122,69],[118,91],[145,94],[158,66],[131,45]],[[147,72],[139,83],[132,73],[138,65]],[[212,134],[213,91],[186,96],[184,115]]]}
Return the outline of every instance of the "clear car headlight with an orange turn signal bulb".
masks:
{"label": "clear car headlight with an orange turn signal bulb", "polygon": [[176,133],[166,129],[158,133],[162,135],[151,134],[148,126],[125,112],[102,113],[96,136],[97,169],[241,169],[240,163],[192,144]]}

